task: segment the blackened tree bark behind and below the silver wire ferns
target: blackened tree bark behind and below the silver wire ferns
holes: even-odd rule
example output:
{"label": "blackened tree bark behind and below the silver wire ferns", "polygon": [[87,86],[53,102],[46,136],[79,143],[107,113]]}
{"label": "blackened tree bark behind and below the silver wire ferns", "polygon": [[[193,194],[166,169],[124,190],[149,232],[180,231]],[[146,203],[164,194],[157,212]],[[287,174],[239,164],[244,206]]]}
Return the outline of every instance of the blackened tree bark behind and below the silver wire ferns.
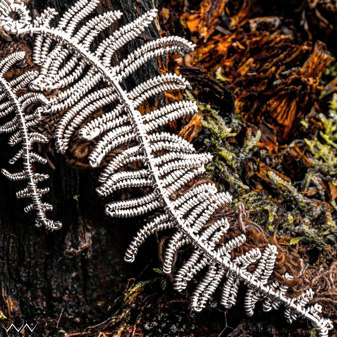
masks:
{"label": "blackened tree bark behind and below the silver wire ferns", "polygon": [[[71,0],[32,0],[29,7],[41,12],[50,6],[63,13],[71,5]],[[103,0],[98,11],[120,9],[124,15],[118,25],[123,25],[153,5],[150,0]],[[145,38],[157,37],[157,26],[152,24]],[[134,49],[141,40],[129,43],[119,57],[125,57],[127,50]],[[157,73],[158,65],[152,62],[132,80],[138,84]],[[14,149],[7,145],[8,135],[0,140],[0,166],[12,170],[7,161]],[[27,200],[15,197],[20,184],[0,177],[0,310],[7,317],[2,323],[9,326],[13,320],[16,326],[25,321],[31,326],[37,324],[36,336],[56,336],[61,329],[67,333],[82,331],[109,317],[116,310],[114,302],[123,294],[128,278],[138,275],[149,262],[146,259],[151,259],[145,255],[143,263],[124,262],[124,251],[140,220],[104,215],[105,202],[95,192],[100,169],[76,170],[63,157],[48,156],[55,169],[39,167],[38,172],[48,171],[50,175],[51,191],[44,199],[54,205],[51,218],[63,223],[58,232],[45,233],[34,227],[34,214],[23,211]],[[4,334],[2,330],[0,335]]]}

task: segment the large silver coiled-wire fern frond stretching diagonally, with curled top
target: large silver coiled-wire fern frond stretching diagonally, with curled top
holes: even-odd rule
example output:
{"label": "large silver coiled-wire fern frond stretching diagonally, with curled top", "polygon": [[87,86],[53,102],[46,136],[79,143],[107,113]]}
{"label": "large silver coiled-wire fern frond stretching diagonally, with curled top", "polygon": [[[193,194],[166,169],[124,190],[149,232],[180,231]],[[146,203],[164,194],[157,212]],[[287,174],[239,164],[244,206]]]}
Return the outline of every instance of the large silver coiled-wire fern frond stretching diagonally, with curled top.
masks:
{"label": "large silver coiled-wire fern frond stretching diagonally, with curled top", "polygon": [[[235,305],[238,285],[243,282],[248,287],[247,315],[253,314],[260,299],[264,300],[266,311],[284,305],[289,323],[299,317],[307,318],[319,336],[327,336],[332,323],[319,315],[319,304],[308,305],[313,298],[312,290],[292,298],[285,284],[270,278],[277,258],[275,245],[232,254],[246,241],[245,227],[242,226],[240,234],[227,237],[231,230],[228,219],[218,211],[232,197],[227,192],[218,192],[214,184],[201,178],[204,165],[212,156],[196,153],[180,136],[158,131],[169,121],[196,113],[195,103],[174,102],[145,115],[137,110],[151,96],[184,89],[187,81],[168,73],[148,79],[130,91],[122,88],[123,81],[150,59],[189,52],[193,44],[175,36],[149,41],[114,66],[112,57],[116,51],[142,34],[157,12],[146,12],[94,48],[96,36],[122,16],[119,11],[109,11],[83,23],[98,3],[99,0],[79,0],[54,28],[50,22],[57,15],[55,10],[48,8],[31,22],[24,6],[18,10],[18,5],[1,0],[1,22],[6,32],[36,35],[33,61],[40,71],[29,87],[36,92],[59,92],[42,102],[43,109],[62,115],[55,131],[57,150],[64,153],[75,132],[82,139],[94,141],[88,156],[92,167],[99,166],[114,150],[115,156],[99,178],[101,185],[97,192],[101,196],[125,188],[152,188],[141,197],[106,205],[106,214],[113,217],[136,216],[158,209],[155,217],[133,238],[125,260],[134,260],[149,235],[171,228],[174,233],[165,251],[165,273],[171,273],[175,254],[182,246],[193,246],[190,257],[176,273],[175,288],[182,291],[196,274],[206,269],[192,295],[194,310],[205,307],[220,282],[223,282],[220,302],[230,308]],[[13,12],[19,16],[16,21],[12,19]],[[130,170],[131,163],[136,163],[136,170]],[[192,181],[197,183],[190,184]],[[243,205],[239,207],[242,215]],[[216,212],[217,217],[213,217]],[[253,270],[251,266],[255,266]],[[284,274],[283,278],[293,276]]]}

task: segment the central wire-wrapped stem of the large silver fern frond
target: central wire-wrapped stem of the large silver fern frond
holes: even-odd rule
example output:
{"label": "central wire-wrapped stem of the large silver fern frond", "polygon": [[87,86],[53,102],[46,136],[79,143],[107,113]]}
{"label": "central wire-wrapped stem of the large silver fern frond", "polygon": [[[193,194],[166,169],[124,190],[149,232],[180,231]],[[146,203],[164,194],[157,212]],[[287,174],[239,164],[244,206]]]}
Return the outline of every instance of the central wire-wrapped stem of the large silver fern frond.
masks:
{"label": "central wire-wrapped stem of the large silver fern frond", "polygon": [[103,80],[107,81],[108,84],[111,84],[116,89],[116,92],[120,94],[120,98],[126,104],[126,109],[130,114],[130,121],[134,122],[133,128],[135,132],[138,133],[136,139],[137,141],[139,141],[141,146],[141,152],[144,153],[144,156],[146,158],[144,161],[144,165],[147,166],[150,172],[149,178],[151,178],[154,182],[154,190],[158,193],[159,200],[162,203],[164,210],[172,216],[173,221],[177,224],[177,228],[181,229],[185,234],[187,234],[189,238],[191,238],[194,246],[202,249],[205,255],[209,257],[211,262],[218,263],[219,266],[221,266],[222,268],[230,270],[231,273],[235,274],[241,281],[243,281],[252,289],[258,290],[259,292],[266,294],[268,295],[268,297],[271,298],[274,298],[276,295],[276,298],[280,302],[284,303],[285,307],[292,309],[294,313],[296,313],[300,317],[306,317],[313,323],[313,326],[317,327],[320,324],[319,319],[317,319],[309,312],[306,312],[301,306],[296,305],[293,299],[286,298],[285,296],[280,294],[276,294],[276,292],[272,290],[269,286],[265,286],[259,280],[254,279],[249,272],[241,271],[240,268],[236,264],[232,263],[228,258],[220,257],[219,255],[217,255],[214,250],[208,247],[207,243],[201,241],[200,237],[193,233],[193,229],[188,227],[183,219],[177,214],[173,204],[167,196],[166,190],[161,184],[161,180],[159,178],[159,175],[157,174],[158,168],[153,163],[154,157],[149,152],[150,144],[144,124],[141,120],[142,116],[139,111],[133,108],[132,100],[127,97],[127,92],[123,90],[120,86],[118,77],[115,76],[108,67],[105,67],[101,63],[100,59],[96,57],[93,53],[91,53],[88,48],[83,48],[81,44],[76,42],[76,39],[73,39],[69,34],[61,31],[60,29],[31,26],[29,32],[31,34],[49,35],[59,42],[66,43],[69,49],[72,49],[76,54],[84,57],[89,64],[93,65],[101,73]]}

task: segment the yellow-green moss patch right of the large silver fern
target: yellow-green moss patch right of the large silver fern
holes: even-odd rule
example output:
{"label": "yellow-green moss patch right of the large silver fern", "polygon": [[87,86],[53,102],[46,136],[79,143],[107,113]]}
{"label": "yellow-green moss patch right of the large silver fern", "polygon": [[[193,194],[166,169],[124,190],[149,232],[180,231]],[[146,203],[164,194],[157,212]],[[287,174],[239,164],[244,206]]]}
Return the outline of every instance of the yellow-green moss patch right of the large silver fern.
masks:
{"label": "yellow-green moss patch right of the large silver fern", "polygon": [[[221,71],[217,72],[220,81]],[[190,92],[189,99],[194,99]],[[207,177],[218,183],[220,191],[226,190],[233,195],[234,205],[239,202],[250,208],[252,221],[272,232],[276,221],[279,222],[278,234],[290,237],[290,245],[299,242],[309,250],[322,254],[334,247],[337,242],[335,215],[336,201],[325,201],[326,182],[337,186],[337,94],[330,104],[329,117],[317,115],[323,129],[318,137],[310,139],[310,119],[301,121],[308,134],[299,140],[306,147],[311,168],[301,172],[300,181],[289,181],[282,178],[287,167],[283,166],[282,156],[275,156],[257,145],[261,131],[251,129],[244,119],[232,113],[220,116],[218,108],[196,101],[204,113],[203,133],[198,146],[200,151],[212,153],[213,161],[206,166]],[[286,154],[291,144],[284,148]],[[304,149],[305,151],[305,149]],[[261,172],[259,163],[266,167]],[[273,170],[268,171],[268,167]],[[291,171],[291,168],[290,170]],[[279,172],[280,175],[275,172]]]}

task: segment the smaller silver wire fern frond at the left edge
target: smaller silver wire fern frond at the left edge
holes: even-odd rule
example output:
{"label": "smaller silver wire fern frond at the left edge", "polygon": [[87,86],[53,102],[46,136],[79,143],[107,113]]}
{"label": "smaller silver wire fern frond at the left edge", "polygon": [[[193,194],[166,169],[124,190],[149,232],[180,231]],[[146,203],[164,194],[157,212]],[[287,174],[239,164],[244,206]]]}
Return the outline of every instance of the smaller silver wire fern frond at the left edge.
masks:
{"label": "smaller silver wire fern frond at the left edge", "polygon": [[[14,164],[17,160],[23,160],[23,170],[16,173],[9,173],[4,168],[1,172],[6,178],[18,181],[27,180],[27,186],[16,193],[18,198],[31,198],[32,202],[25,208],[25,212],[34,210],[36,212],[36,226],[44,226],[48,230],[61,228],[59,221],[47,219],[45,212],[51,211],[53,206],[43,203],[42,195],[49,191],[49,187],[39,188],[37,184],[48,179],[47,174],[40,174],[34,171],[34,162],[46,164],[47,159],[34,152],[34,143],[48,143],[48,138],[32,128],[37,125],[42,118],[41,107],[36,108],[31,113],[26,114],[26,109],[32,104],[41,103],[44,96],[41,93],[29,92],[18,96],[18,92],[25,89],[37,75],[37,71],[27,71],[21,76],[7,81],[4,74],[17,62],[22,61],[25,52],[15,52],[7,56],[0,62],[0,118],[7,121],[0,125],[0,133],[13,133],[8,141],[10,146],[21,144],[22,148],[9,160]],[[10,120],[8,120],[11,118]]]}

